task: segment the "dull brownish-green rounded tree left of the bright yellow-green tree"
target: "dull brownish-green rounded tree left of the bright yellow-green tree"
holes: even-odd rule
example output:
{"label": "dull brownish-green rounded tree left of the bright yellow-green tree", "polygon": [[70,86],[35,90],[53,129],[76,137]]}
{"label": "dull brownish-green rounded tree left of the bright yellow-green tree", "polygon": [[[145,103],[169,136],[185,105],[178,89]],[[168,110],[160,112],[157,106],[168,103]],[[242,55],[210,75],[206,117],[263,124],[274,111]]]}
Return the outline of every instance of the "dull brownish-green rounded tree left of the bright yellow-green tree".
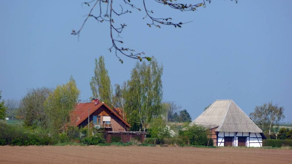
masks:
{"label": "dull brownish-green rounded tree left of the bright yellow-green tree", "polygon": [[26,126],[36,128],[37,125],[46,125],[47,116],[45,114],[44,102],[51,92],[52,89],[46,87],[32,88],[22,98],[20,102],[21,112],[19,114],[20,116],[24,115],[24,124]]}

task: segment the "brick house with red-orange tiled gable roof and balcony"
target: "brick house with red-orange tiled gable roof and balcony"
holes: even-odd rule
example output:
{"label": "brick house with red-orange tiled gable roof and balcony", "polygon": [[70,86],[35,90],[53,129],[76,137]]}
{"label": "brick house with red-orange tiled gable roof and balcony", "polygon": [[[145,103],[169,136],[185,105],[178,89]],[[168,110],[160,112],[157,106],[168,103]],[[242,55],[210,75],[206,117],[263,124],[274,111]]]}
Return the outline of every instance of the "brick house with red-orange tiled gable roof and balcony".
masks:
{"label": "brick house with red-orange tiled gable roof and balcony", "polygon": [[[89,111],[88,111],[89,110]],[[78,103],[71,112],[71,124],[84,127],[89,123],[94,127],[104,128],[106,132],[126,132],[129,125],[116,111],[98,99],[88,103]]]}

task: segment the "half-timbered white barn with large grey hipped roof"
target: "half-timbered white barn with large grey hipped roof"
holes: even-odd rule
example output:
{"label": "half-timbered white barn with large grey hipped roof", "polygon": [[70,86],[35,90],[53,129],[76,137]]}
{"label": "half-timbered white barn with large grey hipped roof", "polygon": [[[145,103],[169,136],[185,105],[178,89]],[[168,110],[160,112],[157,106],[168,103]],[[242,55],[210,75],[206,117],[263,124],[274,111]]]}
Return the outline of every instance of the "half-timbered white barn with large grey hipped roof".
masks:
{"label": "half-timbered white barn with large grey hipped roof", "polygon": [[217,146],[261,147],[263,131],[232,100],[216,100],[192,124],[210,128]]}

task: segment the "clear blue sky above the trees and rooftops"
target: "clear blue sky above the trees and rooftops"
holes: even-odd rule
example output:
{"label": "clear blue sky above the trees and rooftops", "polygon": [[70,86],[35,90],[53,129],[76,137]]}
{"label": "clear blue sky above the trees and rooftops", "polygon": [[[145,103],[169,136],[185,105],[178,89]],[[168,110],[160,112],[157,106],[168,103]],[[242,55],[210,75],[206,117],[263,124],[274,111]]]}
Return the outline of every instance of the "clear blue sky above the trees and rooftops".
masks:
{"label": "clear blue sky above the trees and rooftops", "polygon": [[[181,0],[182,1],[182,0]],[[0,3],[0,90],[4,99],[21,99],[27,88],[55,87],[70,75],[91,96],[94,59],[105,56],[112,86],[130,78],[136,60],[111,46],[108,23],[88,20],[84,1],[11,1]],[[200,1],[198,1],[200,2]],[[119,1],[114,1],[119,5]],[[178,12],[148,1],[158,17],[187,22],[182,28],[148,27],[145,12],[114,18],[127,24],[124,47],[144,51],[163,64],[163,99],[175,101],[196,118],[217,99],[232,99],[249,114],[256,105],[273,101],[284,106],[292,121],[292,1],[212,1],[195,12]],[[142,8],[142,1],[136,1]],[[284,119],[286,121],[286,119]]]}

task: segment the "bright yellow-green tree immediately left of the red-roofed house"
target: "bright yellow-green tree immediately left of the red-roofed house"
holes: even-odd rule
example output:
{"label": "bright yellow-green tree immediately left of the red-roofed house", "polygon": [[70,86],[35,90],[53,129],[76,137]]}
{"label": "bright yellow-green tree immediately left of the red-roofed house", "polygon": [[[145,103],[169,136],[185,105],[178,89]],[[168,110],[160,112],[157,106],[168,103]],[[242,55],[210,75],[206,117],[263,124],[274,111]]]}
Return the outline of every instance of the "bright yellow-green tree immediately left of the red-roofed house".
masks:
{"label": "bright yellow-green tree immediately left of the red-roofed house", "polygon": [[70,122],[69,112],[74,110],[79,95],[80,91],[72,76],[69,82],[62,86],[57,86],[49,94],[44,104],[49,118],[48,123],[53,130],[65,132],[65,126]]}

